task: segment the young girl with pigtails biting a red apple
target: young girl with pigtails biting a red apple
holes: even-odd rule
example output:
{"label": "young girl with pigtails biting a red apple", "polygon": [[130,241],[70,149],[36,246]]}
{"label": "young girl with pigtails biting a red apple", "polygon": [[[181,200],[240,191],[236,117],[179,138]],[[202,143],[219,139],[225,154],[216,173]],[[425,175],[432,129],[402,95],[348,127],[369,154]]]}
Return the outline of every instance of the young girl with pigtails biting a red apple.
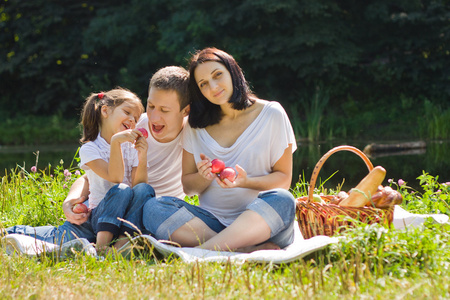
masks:
{"label": "young girl with pigtails biting a red apple", "polygon": [[82,111],[81,168],[89,180],[91,224],[99,251],[123,234],[118,218],[134,207],[133,193],[121,193],[117,199],[117,189],[147,183],[148,146],[135,129],[143,111],[141,100],[122,88],[91,94]]}

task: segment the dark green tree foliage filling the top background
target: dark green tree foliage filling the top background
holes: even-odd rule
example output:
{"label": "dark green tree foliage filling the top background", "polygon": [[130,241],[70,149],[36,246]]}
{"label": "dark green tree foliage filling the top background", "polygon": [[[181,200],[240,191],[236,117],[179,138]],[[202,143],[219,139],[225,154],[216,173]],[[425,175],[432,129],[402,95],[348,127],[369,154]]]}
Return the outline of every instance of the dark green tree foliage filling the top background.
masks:
{"label": "dark green tree foliage filling the top background", "polygon": [[318,87],[336,109],[450,97],[448,0],[0,1],[7,116],[75,117],[90,92],[114,86],[145,99],[158,68],[207,46],[285,105]]}

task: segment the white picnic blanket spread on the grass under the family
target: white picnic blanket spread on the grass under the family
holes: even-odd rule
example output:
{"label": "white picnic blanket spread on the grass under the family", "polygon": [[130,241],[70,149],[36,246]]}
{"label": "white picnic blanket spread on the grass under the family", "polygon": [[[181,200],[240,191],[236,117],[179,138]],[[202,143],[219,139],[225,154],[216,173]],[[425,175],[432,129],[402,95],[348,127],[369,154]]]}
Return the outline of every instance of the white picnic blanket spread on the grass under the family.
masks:
{"label": "white picnic blanket spread on the grass under the family", "polygon": [[[412,214],[396,205],[394,209],[393,225],[395,229],[419,226],[427,218],[432,218],[436,223],[447,223],[449,216],[444,214]],[[288,263],[299,260],[308,254],[321,250],[326,246],[337,243],[340,238],[315,236],[305,240],[300,232],[297,222],[294,227],[294,242],[280,250],[258,250],[251,253],[212,251],[190,247],[175,247],[156,240],[149,235],[141,235],[133,238],[122,248],[119,253],[125,257],[132,257],[135,250],[153,251],[159,257],[178,257],[185,262],[210,261],[210,262],[258,262],[258,263]],[[72,240],[62,245],[55,245],[33,237],[19,234],[9,234],[1,239],[1,244],[6,249],[6,253],[25,254],[36,256],[43,253],[56,253],[60,258],[65,259],[76,253],[97,256],[95,248],[86,239]]]}

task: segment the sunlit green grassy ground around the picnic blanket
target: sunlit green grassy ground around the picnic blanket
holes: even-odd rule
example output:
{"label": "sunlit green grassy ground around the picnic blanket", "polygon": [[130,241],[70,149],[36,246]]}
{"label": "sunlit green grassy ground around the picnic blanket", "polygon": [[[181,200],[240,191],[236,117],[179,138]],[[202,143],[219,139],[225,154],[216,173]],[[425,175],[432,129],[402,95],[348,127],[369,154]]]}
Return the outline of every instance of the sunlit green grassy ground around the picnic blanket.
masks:
{"label": "sunlit green grassy ground around the picnic blanket", "polygon": [[[78,176],[75,171],[18,168],[4,176],[0,226],[61,224],[61,203]],[[450,214],[450,183],[426,173],[419,179],[423,193],[390,183],[403,194],[402,206],[415,213]],[[306,195],[306,188],[299,183],[292,193]],[[0,249],[0,298],[448,299],[449,229],[432,222],[406,231],[359,224],[338,244],[281,266],[83,255],[58,261],[7,256]]]}

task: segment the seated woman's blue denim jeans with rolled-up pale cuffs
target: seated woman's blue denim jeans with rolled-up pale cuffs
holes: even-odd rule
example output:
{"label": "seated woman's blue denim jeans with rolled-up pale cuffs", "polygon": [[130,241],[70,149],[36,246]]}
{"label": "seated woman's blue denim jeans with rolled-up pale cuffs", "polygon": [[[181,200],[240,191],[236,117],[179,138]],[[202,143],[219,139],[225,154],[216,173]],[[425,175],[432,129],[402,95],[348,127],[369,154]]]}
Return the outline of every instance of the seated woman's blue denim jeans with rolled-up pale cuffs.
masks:
{"label": "seated woman's blue denim jeans with rolled-up pale cuffs", "polygon": [[[261,192],[247,209],[258,213],[269,225],[271,235],[267,241],[281,248],[294,241],[295,198],[290,192],[283,189]],[[168,240],[174,231],[194,217],[202,220],[214,232],[219,233],[226,228],[203,208],[174,197],[148,200],[142,220],[145,229],[157,239]]]}

